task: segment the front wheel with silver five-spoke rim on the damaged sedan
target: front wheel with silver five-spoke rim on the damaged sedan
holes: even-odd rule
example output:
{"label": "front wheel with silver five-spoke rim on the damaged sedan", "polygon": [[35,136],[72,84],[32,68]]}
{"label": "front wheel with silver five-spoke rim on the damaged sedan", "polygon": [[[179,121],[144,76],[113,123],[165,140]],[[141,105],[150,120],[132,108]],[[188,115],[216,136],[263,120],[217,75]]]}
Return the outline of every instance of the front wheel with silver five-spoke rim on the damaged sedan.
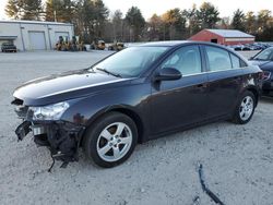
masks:
{"label": "front wheel with silver five-spoke rim on the damaged sedan", "polygon": [[97,166],[111,168],[126,161],[138,143],[138,129],[131,118],[109,112],[86,131],[83,149]]}

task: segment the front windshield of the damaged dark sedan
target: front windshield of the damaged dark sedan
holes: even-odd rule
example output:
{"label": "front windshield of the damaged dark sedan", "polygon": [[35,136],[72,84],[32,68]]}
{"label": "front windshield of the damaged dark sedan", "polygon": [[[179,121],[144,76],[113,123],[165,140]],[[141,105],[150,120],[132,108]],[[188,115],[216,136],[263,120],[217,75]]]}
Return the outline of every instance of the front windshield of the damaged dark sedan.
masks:
{"label": "front windshield of the damaged dark sedan", "polygon": [[92,70],[121,77],[135,77],[149,69],[168,47],[131,47],[92,67]]}

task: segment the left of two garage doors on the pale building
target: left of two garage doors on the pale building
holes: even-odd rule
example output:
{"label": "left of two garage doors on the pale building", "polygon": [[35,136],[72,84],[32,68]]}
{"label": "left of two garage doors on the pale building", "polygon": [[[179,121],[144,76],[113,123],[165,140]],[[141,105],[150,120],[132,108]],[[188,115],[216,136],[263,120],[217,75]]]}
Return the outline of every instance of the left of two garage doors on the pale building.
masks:
{"label": "left of two garage doors on the pale building", "polygon": [[32,50],[45,50],[46,39],[44,32],[29,32],[29,41]]}

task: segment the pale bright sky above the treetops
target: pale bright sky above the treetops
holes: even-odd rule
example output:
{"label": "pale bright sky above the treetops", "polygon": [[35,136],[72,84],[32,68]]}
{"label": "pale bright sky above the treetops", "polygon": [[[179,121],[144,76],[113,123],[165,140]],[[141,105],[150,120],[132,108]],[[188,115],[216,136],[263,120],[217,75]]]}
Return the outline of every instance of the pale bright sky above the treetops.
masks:
{"label": "pale bright sky above the treetops", "polygon": [[[7,1],[0,0],[0,20],[8,19],[4,13]],[[104,0],[104,3],[111,12],[119,9],[123,14],[127,13],[129,8],[135,5],[149,20],[154,13],[163,14],[174,8],[190,9],[193,3],[199,7],[204,1],[213,3],[218,9],[221,17],[232,16],[237,9],[245,12],[269,9],[273,12],[273,0]]]}

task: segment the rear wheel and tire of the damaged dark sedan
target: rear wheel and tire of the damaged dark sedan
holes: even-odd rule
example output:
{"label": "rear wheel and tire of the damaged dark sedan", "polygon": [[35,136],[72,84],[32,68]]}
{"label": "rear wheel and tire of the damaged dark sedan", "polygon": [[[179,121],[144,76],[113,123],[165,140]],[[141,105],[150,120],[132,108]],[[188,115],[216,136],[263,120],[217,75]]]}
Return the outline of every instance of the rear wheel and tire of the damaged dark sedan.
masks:
{"label": "rear wheel and tire of the damaged dark sedan", "polygon": [[256,109],[256,97],[252,92],[246,91],[240,99],[238,100],[238,104],[235,109],[235,113],[233,117],[233,122],[236,124],[246,124],[248,123]]}

